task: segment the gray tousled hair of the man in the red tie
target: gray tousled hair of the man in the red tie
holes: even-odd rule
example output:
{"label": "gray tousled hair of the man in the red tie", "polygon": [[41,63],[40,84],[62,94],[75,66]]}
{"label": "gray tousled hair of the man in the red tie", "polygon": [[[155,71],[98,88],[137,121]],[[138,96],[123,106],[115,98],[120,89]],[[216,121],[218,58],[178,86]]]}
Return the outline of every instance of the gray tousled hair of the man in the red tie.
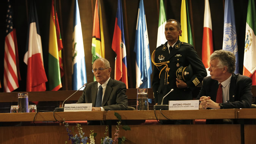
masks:
{"label": "gray tousled hair of the man in the red tie", "polygon": [[216,50],[210,55],[210,60],[218,59],[219,63],[217,67],[223,68],[228,67],[228,72],[234,73],[236,69],[236,56],[226,50]]}

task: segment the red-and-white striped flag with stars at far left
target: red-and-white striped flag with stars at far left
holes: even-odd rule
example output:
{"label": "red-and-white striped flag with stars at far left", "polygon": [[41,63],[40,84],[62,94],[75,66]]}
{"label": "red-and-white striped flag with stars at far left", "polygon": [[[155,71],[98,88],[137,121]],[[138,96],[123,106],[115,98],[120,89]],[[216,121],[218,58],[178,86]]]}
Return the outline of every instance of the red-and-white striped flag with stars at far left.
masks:
{"label": "red-and-white striped flag with stars at far left", "polygon": [[[4,92],[11,92],[19,88],[19,55],[17,47],[16,30],[13,25],[13,9],[8,0],[6,14],[6,35],[5,35],[5,58],[4,58]],[[0,84],[0,88],[1,88]]]}

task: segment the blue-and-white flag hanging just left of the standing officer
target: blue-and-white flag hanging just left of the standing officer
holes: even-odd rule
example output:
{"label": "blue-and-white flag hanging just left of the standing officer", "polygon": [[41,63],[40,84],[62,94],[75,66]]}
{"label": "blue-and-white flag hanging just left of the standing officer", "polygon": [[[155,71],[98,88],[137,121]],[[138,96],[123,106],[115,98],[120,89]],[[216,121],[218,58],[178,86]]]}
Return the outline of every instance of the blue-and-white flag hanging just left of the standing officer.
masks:
{"label": "blue-and-white flag hanging just left of the standing officer", "polygon": [[151,88],[150,75],[152,73],[152,66],[143,0],[140,0],[138,9],[133,51],[136,53],[136,88]]}

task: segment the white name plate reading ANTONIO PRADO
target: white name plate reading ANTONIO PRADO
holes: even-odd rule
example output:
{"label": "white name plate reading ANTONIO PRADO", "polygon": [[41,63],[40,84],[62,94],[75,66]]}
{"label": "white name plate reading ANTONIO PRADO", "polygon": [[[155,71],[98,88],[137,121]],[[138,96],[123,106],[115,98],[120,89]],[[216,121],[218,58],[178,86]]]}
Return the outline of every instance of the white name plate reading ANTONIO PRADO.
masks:
{"label": "white name plate reading ANTONIO PRADO", "polygon": [[199,100],[170,100],[169,110],[199,110]]}

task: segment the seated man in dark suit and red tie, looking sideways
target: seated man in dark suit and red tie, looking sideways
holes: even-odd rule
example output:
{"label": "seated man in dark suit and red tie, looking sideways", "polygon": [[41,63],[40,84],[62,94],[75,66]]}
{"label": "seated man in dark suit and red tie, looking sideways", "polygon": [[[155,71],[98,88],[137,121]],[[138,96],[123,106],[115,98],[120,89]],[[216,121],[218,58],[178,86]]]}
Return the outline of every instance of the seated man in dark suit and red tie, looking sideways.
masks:
{"label": "seated man in dark suit and red tie, looking sideways", "polygon": [[249,77],[234,74],[236,58],[231,52],[217,50],[210,56],[210,75],[203,79],[199,109],[250,108],[252,93]]}

